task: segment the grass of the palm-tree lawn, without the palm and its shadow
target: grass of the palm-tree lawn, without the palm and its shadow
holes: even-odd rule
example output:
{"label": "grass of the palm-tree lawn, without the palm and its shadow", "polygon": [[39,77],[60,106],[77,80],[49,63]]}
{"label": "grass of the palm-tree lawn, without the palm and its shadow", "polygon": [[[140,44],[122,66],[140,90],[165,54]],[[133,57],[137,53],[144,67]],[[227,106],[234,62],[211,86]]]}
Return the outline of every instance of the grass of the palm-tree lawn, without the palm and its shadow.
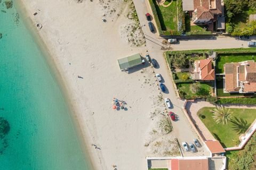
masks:
{"label": "grass of the palm-tree lawn, without the palm and its shadow", "polygon": [[[237,145],[239,134],[237,134],[232,128],[232,123],[229,122],[226,125],[217,124],[213,120],[213,114],[210,112],[214,107],[203,107],[197,112],[197,115],[209,129],[212,135],[220,141],[223,147],[234,147]],[[255,109],[239,109],[230,108],[232,117],[242,117],[248,124],[251,124],[256,118]],[[204,116],[205,118],[202,118]]]}

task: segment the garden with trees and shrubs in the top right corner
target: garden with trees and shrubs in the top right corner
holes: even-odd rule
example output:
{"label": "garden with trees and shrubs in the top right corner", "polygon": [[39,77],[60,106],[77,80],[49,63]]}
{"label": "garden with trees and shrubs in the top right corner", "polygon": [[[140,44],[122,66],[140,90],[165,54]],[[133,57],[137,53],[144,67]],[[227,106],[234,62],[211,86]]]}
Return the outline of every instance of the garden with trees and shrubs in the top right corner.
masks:
{"label": "garden with trees and shrubs in the top right corner", "polygon": [[256,21],[250,21],[250,15],[256,14],[255,0],[225,0],[227,23],[226,31],[232,36],[255,35]]}

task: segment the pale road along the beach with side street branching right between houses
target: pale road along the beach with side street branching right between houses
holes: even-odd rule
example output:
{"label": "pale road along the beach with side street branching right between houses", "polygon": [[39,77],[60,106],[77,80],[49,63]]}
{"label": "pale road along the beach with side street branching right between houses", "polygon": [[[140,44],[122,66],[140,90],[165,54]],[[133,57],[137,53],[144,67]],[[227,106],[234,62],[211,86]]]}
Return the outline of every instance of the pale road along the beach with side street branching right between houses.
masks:
{"label": "pale road along the beach with side street branching right between houses", "polygon": [[[162,75],[163,82],[167,91],[163,93],[164,98],[170,98],[172,103],[172,108],[170,111],[178,115],[179,120],[172,122],[173,131],[178,138],[180,144],[182,141],[187,143],[192,142],[193,139],[198,138],[196,132],[193,130],[189,124],[185,113],[182,111],[182,106],[184,101],[178,99],[175,95],[175,90],[173,87],[173,82],[171,79],[171,73],[167,67],[167,64],[164,60],[163,53],[166,46],[162,44],[164,38],[157,36],[157,33],[152,33],[148,27],[148,21],[146,20],[146,13],[152,12],[148,11],[144,0],[135,0],[134,5],[138,13],[140,24],[142,25],[142,30],[146,38],[146,46],[148,53],[151,58],[155,58],[158,62],[158,67],[155,69],[156,73]],[[153,19],[154,23],[154,19]],[[155,23],[154,23],[155,25]],[[255,40],[256,37],[252,37],[250,40]],[[247,41],[238,40],[234,37],[218,36],[218,37],[209,37],[209,38],[198,38],[198,39],[180,39],[178,44],[173,44],[170,46],[171,50],[188,50],[188,49],[217,49],[217,48],[248,48]],[[205,147],[199,148],[196,154],[191,152],[185,152],[184,156],[199,156],[199,155],[209,155],[209,152]]]}

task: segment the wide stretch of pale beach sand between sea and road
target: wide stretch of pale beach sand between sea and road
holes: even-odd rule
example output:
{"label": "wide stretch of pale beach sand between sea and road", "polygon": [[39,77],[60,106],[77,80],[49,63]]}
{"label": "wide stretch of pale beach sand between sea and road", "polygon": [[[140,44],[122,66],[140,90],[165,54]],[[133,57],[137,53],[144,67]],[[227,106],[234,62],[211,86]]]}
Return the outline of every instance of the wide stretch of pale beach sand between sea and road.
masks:
{"label": "wide stretch of pale beach sand between sea and road", "polygon": [[[124,7],[112,0],[109,4],[114,5],[105,10],[106,2],[102,1],[21,1],[29,18],[43,25],[39,35],[67,84],[95,169],[114,169],[112,165],[122,170],[146,169],[145,157],[152,155],[146,154],[150,151],[144,145],[160,137],[149,139],[155,126],[155,116],[150,112],[155,112],[157,105],[163,112],[164,107],[163,101],[157,101],[159,90],[151,67],[131,74],[119,71],[118,58],[145,55],[146,50],[144,46],[132,48],[124,37],[121,39],[127,19],[118,10]],[[114,7],[116,12],[106,12]],[[38,14],[34,16],[34,12]],[[106,23],[101,20],[103,14]],[[78,75],[84,79],[78,79]],[[114,111],[113,97],[126,101],[128,110]]]}

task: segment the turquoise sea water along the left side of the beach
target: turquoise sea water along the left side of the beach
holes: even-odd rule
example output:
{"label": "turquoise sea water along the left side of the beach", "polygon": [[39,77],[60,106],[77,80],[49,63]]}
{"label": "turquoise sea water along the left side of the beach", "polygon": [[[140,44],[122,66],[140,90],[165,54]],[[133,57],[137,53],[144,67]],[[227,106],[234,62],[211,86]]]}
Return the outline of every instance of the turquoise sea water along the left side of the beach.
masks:
{"label": "turquoise sea water along the left side of the beach", "polygon": [[58,83],[14,7],[0,3],[0,117],[10,123],[0,169],[90,169]]}

